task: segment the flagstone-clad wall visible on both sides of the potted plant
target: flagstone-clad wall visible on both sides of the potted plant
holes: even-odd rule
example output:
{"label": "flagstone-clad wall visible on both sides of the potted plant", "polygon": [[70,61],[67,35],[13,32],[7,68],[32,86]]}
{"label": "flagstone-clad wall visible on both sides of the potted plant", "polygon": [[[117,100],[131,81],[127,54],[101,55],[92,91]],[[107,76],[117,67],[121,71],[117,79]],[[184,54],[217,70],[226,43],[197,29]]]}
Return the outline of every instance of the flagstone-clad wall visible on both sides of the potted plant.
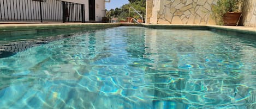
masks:
{"label": "flagstone-clad wall visible on both sides of the potted plant", "polygon": [[[218,0],[147,0],[146,23],[216,24],[211,17]],[[244,0],[240,25],[256,27],[256,0]]]}

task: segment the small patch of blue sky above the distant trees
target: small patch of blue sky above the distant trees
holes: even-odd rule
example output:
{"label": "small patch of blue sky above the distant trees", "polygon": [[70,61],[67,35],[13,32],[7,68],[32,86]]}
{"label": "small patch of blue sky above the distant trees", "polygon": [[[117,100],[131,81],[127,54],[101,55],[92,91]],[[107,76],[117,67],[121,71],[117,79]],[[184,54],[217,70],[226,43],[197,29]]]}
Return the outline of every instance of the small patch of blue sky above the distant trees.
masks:
{"label": "small patch of blue sky above the distant trees", "polygon": [[122,5],[129,3],[128,0],[111,0],[110,3],[106,3],[106,9],[116,9],[122,7]]}

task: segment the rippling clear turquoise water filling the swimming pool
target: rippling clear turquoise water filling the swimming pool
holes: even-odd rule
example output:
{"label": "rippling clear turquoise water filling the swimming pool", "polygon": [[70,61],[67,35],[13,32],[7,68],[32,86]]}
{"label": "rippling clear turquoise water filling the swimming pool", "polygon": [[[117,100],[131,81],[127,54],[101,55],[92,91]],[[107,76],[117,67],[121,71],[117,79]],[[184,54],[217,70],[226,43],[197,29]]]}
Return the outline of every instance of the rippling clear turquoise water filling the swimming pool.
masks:
{"label": "rippling clear turquoise water filling the swimming pool", "polygon": [[256,108],[255,57],[206,30],[86,30],[0,59],[0,108]]}

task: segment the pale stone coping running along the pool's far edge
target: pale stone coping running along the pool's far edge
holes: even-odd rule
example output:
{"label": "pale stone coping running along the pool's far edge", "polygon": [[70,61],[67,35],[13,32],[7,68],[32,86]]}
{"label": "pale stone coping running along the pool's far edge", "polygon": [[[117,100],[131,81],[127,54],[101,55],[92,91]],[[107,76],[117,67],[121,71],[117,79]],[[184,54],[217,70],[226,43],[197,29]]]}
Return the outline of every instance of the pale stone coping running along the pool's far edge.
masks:
{"label": "pale stone coping running along the pool's far edge", "polygon": [[[138,25],[135,23],[35,23],[35,24],[0,24],[0,34],[5,32],[17,32],[29,30],[64,29],[64,28],[110,28],[119,26]],[[198,29],[211,30],[231,35],[253,35],[256,37],[256,28],[243,26],[224,25],[195,25],[195,24],[142,24],[147,28],[159,29]],[[19,32],[20,33],[20,32]]]}

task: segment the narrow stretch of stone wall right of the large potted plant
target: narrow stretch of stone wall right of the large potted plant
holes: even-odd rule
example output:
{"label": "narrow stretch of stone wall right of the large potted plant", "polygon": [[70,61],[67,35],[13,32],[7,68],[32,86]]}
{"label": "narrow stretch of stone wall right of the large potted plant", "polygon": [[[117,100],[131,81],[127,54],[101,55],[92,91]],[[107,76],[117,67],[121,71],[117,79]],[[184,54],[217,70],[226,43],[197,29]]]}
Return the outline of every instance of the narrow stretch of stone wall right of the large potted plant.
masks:
{"label": "narrow stretch of stone wall right of the large potted plant", "polygon": [[256,0],[245,0],[242,11],[242,25],[256,27]]}

